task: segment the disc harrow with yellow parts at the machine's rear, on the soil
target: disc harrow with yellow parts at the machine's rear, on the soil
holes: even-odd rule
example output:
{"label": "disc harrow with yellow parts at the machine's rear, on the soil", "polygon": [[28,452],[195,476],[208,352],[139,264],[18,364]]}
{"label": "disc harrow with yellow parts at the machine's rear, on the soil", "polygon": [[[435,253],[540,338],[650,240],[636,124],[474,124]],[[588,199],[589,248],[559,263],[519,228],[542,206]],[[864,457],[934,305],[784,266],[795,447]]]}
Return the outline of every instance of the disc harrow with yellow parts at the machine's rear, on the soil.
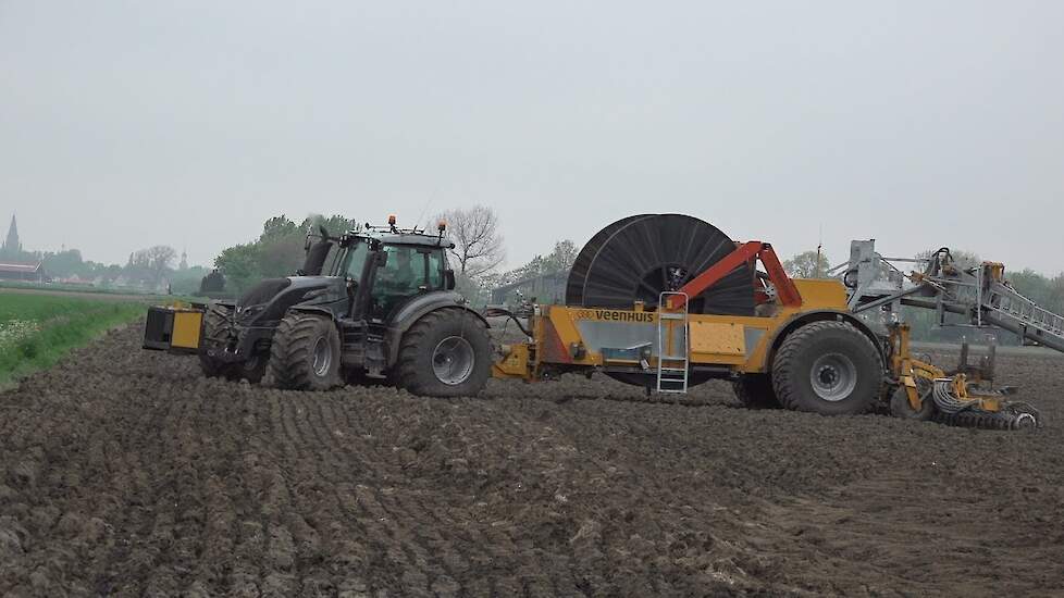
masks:
{"label": "disc harrow with yellow parts at the machine's rear, on the soil", "polygon": [[973,395],[968,399],[957,397],[953,378],[935,381],[933,400],[937,422],[961,427],[981,429],[1036,429],[1041,427],[1041,415],[1028,403],[1002,402],[997,411],[982,409],[983,399],[1001,401],[1000,393]]}

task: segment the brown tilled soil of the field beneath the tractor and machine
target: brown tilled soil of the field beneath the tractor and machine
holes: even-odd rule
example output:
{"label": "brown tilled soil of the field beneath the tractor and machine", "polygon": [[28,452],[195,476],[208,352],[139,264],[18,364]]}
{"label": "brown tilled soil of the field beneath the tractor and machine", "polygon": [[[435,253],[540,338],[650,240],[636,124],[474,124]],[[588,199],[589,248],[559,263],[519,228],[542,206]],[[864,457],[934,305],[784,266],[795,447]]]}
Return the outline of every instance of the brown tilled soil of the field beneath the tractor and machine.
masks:
{"label": "brown tilled soil of the field beneath the tractor and machine", "polygon": [[0,595],[1064,594],[1057,358],[1000,359],[1029,435],[716,384],[287,393],[138,335],[0,395]]}

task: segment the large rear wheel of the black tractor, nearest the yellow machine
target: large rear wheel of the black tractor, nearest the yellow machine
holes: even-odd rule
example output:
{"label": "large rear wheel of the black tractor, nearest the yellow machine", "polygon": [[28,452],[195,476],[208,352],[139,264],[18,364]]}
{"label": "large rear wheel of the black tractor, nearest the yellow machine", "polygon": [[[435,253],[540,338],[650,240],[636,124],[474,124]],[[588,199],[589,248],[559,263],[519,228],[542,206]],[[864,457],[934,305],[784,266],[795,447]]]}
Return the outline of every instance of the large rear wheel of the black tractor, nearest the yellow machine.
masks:
{"label": "large rear wheel of the black tractor, nearest the yellow machine", "polygon": [[481,319],[463,309],[430,312],[403,336],[393,379],[422,397],[468,397],[492,373],[492,346]]}

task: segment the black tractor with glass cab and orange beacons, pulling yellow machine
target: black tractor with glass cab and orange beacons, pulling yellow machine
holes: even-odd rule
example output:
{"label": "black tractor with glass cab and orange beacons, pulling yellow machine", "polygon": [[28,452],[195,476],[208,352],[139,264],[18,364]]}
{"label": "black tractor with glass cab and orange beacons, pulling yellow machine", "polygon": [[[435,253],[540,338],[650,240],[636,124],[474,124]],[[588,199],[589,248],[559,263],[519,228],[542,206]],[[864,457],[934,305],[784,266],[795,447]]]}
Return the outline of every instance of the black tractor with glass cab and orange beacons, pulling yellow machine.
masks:
{"label": "black tractor with glass cab and orange beacons, pulling yellow machine", "polygon": [[491,375],[487,321],[454,291],[454,245],[438,234],[366,225],[307,237],[295,276],[211,301],[199,361],[208,376],[280,388],[394,384],[423,396],[475,395]]}

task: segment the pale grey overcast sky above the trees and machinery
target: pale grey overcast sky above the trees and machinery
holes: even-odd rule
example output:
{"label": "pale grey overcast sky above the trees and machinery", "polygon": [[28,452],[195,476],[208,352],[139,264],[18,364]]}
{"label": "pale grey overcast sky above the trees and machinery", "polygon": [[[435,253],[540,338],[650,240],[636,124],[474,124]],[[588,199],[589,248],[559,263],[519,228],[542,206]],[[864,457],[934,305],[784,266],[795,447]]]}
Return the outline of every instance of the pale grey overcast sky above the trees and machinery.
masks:
{"label": "pale grey overcast sky above the trees and machinery", "polygon": [[286,213],[633,213],[1064,270],[1064,2],[0,0],[0,223],[209,264]]}

